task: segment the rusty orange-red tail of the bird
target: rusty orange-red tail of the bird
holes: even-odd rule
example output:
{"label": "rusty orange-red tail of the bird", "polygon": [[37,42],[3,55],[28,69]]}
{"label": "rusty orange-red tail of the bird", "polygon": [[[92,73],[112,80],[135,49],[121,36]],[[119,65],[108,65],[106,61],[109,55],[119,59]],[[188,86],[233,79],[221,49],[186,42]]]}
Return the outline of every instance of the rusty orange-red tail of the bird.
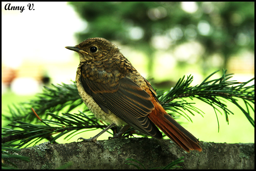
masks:
{"label": "rusty orange-red tail of the bird", "polygon": [[190,150],[202,151],[198,139],[168,115],[161,105],[156,104],[155,109],[148,117],[179,147],[187,152]]}

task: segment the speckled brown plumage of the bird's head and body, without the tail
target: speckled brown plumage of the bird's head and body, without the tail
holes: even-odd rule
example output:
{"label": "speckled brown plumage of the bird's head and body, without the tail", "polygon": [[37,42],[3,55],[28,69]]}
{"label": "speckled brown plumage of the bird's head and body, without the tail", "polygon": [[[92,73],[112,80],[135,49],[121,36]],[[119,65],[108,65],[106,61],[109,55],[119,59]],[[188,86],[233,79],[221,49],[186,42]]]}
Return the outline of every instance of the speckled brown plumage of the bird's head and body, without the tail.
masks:
{"label": "speckled brown plumage of the bird's head and body, without the tail", "polygon": [[[88,42],[91,44],[91,40],[92,39],[87,39],[86,41],[78,44],[77,47],[84,51],[88,51],[89,49],[87,49],[87,44]],[[104,41],[103,46],[101,46],[101,40]],[[147,88],[147,82],[145,79],[111,42],[100,38],[96,39],[96,41],[90,46],[92,45],[97,45],[98,51],[102,50],[101,53],[97,56],[92,54],[86,59],[84,59],[82,54],[79,55],[80,64],[76,73],[76,85],[83,102],[94,113],[97,119],[101,119],[102,121],[110,124],[115,123],[118,126],[128,123],[145,134],[155,136],[158,139],[162,138],[162,134],[146,117],[154,109],[154,105],[151,102],[153,98],[149,96],[143,88],[141,88]],[[132,82],[137,84],[135,85],[137,86],[135,89],[137,89],[139,92],[138,94],[140,94],[139,96],[145,101],[144,105],[141,106],[139,103],[142,103],[143,100],[141,100],[141,102],[136,102],[135,100],[127,99],[127,101],[131,103],[137,103],[137,108],[143,108],[143,111],[141,112],[134,112],[134,116],[137,116],[137,120],[140,121],[136,121],[136,119],[134,119],[134,121],[130,119],[127,120],[127,115],[130,114],[127,111],[132,111],[132,107],[122,106],[122,103],[125,102],[121,102],[121,100],[125,98],[125,95],[123,92],[119,93],[123,86],[132,86]],[[111,105],[113,103],[110,102],[111,99],[106,100],[106,98],[110,96],[115,96],[115,99],[119,99],[120,104],[112,107]],[[104,100],[102,100],[102,98],[104,98]],[[125,108],[126,113],[118,110],[117,108],[119,108],[119,106]],[[136,106],[136,104],[134,106]],[[154,129],[152,130],[152,128]]]}

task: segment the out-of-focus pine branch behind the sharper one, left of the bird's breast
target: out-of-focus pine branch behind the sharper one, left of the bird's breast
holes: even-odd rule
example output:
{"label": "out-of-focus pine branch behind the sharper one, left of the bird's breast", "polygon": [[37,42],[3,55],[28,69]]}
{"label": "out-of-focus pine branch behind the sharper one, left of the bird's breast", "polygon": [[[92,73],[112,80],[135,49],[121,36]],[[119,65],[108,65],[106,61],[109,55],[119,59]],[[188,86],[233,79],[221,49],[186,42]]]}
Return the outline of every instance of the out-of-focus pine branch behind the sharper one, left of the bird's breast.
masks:
{"label": "out-of-focus pine branch behind the sharper one, left of the bird's breast", "polygon": [[19,106],[13,105],[13,108],[9,106],[11,115],[2,115],[11,122],[17,120],[33,121],[36,118],[31,107],[40,117],[45,118],[46,111],[59,113],[63,108],[68,107],[65,112],[69,112],[81,104],[85,108],[84,111],[89,111],[78,94],[76,83],[72,81],[72,84],[62,83],[61,85],[52,84],[52,87],[44,86],[43,93],[37,94],[35,99],[20,103]]}

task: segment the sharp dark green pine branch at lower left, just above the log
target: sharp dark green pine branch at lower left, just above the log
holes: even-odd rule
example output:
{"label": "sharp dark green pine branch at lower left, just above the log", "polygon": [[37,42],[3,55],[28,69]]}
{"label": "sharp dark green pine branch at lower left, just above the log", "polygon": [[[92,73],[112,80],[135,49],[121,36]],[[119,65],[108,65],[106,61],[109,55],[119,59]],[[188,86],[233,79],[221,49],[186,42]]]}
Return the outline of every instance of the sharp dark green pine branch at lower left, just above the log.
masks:
{"label": "sharp dark green pine branch at lower left, just above the log", "polygon": [[[53,143],[56,139],[66,133],[71,132],[71,134],[67,135],[64,139],[67,139],[69,136],[82,129],[104,129],[105,127],[107,127],[107,125],[99,124],[99,122],[96,121],[94,115],[85,114],[81,111],[79,114],[63,113],[64,116],[59,116],[50,112],[48,112],[47,115],[51,116],[52,119],[40,119],[42,124],[33,124],[23,121],[14,121],[15,124],[8,124],[8,126],[20,129],[17,130],[2,128],[5,129],[2,133],[2,136],[4,136],[2,137],[2,143],[8,143],[10,145],[15,141],[20,140],[20,143],[12,145],[18,147],[26,145],[25,147],[27,147],[32,143],[37,144],[40,140],[45,138]],[[56,135],[55,137],[49,137],[53,134],[58,135]],[[73,136],[71,136],[70,138],[72,138]]]}

